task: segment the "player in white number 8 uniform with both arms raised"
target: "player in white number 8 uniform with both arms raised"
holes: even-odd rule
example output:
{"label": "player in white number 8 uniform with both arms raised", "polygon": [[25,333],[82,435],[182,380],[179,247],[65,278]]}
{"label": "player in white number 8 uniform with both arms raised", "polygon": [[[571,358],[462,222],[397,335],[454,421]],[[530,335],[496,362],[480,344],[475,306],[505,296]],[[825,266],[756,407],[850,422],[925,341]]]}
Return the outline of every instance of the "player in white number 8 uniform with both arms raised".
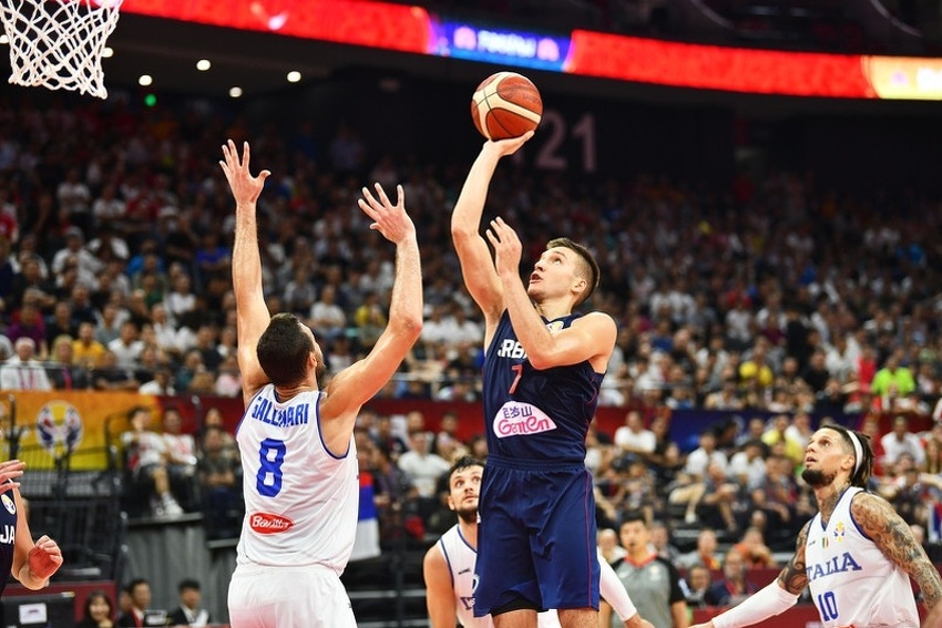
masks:
{"label": "player in white number 8 uniform with both arms raised", "polygon": [[265,178],[252,176],[249,148],[223,146],[223,172],[236,200],[233,285],[238,363],[246,411],[237,442],[246,514],[229,585],[233,628],[355,627],[340,583],[354,547],[359,486],[354,423],[360,406],[396,372],[422,328],[416,228],[377,185],[360,208],[396,245],[389,326],[369,356],[337,373],[324,391],[324,354],[295,316],[270,317],[262,291],[256,202]]}

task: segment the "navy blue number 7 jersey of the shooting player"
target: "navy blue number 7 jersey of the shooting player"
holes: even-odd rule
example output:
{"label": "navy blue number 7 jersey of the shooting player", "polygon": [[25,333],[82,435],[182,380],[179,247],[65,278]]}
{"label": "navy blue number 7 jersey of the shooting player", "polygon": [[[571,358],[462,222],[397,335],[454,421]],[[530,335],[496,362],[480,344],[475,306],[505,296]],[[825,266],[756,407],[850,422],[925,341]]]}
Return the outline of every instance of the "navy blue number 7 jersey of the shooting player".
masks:
{"label": "navy blue number 7 jersey of the shooting player", "polygon": [[[580,316],[543,320],[551,330],[564,329]],[[584,464],[585,434],[595,416],[603,377],[588,361],[537,371],[504,311],[484,358],[489,459],[494,455],[526,467],[544,461],[553,467]]]}

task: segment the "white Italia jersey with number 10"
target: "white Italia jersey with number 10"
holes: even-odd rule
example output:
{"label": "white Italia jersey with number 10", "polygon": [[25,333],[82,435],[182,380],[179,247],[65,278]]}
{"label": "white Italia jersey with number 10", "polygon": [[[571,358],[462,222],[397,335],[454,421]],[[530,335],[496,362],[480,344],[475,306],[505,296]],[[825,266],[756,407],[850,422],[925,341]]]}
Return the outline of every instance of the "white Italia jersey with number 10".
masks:
{"label": "white Italia jersey with number 10", "polygon": [[808,526],[808,586],[823,628],[919,628],[909,575],[857,526],[851,487],[838,500],[828,526],[818,513]]}

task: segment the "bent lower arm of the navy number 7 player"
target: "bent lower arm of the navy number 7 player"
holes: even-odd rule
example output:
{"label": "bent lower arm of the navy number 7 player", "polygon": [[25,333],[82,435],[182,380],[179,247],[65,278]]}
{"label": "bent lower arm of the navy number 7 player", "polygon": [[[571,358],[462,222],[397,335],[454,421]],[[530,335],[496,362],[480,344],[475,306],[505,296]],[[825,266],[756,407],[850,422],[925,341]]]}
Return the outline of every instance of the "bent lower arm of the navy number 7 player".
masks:
{"label": "bent lower arm of the navy number 7 player", "polygon": [[488,239],[494,247],[498,274],[504,286],[504,300],[516,339],[536,370],[593,361],[593,368],[605,369],[617,337],[615,321],[608,315],[591,312],[573,321],[566,329],[551,332],[533,308],[520,278],[522,245],[516,233],[496,218],[491,222]]}

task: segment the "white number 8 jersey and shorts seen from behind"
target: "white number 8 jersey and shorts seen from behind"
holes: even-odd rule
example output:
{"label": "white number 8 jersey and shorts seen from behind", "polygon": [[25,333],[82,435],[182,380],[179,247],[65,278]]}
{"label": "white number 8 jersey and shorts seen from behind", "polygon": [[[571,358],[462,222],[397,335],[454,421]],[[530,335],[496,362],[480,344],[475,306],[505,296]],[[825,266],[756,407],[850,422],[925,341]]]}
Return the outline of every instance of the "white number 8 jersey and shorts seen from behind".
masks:
{"label": "white number 8 jersey and shorts seen from behind", "polygon": [[264,387],[236,433],[245,519],[229,585],[233,628],[355,627],[340,583],[354,548],[359,484],[352,436],[331,452],[320,392],[281,402]]}

